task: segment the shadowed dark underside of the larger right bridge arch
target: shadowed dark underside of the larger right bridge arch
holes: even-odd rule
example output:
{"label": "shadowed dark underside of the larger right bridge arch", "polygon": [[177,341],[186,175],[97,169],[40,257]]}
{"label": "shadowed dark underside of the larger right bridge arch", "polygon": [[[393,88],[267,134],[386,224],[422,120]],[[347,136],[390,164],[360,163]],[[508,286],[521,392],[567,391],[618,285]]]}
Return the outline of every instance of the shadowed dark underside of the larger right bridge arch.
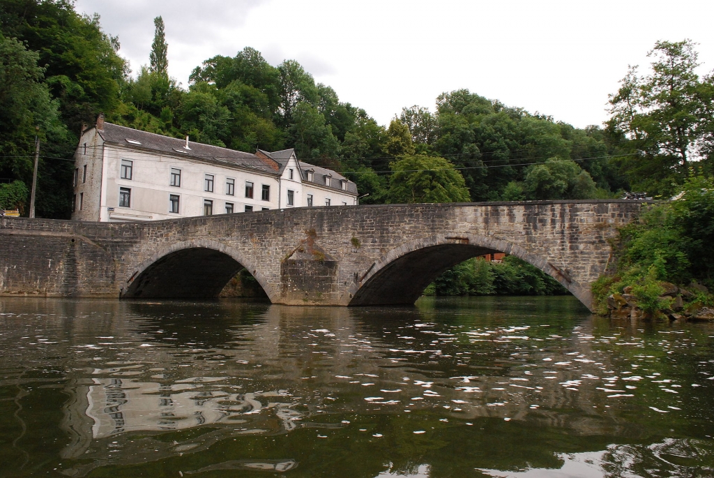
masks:
{"label": "shadowed dark underside of the larger right bridge arch", "polygon": [[468,244],[441,244],[404,254],[368,279],[349,305],[413,304],[446,269],[494,249]]}

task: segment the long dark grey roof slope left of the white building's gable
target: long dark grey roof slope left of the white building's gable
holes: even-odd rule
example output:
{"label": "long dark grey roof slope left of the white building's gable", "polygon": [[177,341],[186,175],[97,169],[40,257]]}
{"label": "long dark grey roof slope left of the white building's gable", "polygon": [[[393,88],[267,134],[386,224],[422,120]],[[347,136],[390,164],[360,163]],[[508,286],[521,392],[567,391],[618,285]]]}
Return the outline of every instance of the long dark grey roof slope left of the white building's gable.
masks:
{"label": "long dark grey roof slope left of the white building's gable", "polygon": [[[99,130],[104,141],[119,144],[134,149],[149,149],[172,156],[186,156],[198,161],[221,163],[231,166],[242,166],[248,169],[257,169],[268,174],[278,174],[279,164],[271,164],[269,160],[262,159],[255,154],[236,151],[234,149],[201,144],[188,141],[185,149],[185,139],[171,138],[161,134],[147,133],[139,129],[127,128],[118,124],[104,123],[104,129]],[[141,144],[132,144],[127,139],[139,141]],[[279,151],[278,151],[279,152]],[[288,156],[289,157],[289,156]],[[277,161],[276,161],[277,163]]]}

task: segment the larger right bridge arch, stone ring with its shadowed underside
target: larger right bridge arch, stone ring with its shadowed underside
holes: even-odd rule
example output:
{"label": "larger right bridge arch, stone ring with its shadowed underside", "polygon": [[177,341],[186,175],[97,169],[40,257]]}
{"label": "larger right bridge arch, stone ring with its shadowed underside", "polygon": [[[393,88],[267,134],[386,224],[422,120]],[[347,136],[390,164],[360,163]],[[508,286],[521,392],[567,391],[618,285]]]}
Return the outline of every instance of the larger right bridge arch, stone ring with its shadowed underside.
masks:
{"label": "larger right bridge arch, stone ring with its shadowed underside", "polygon": [[503,239],[476,234],[438,234],[391,249],[358,278],[358,289],[348,305],[413,304],[428,284],[446,269],[471,257],[496,252],[505,252],[538,267],[592,310],[589,284],[573,280],[547,257],[531,254]]}

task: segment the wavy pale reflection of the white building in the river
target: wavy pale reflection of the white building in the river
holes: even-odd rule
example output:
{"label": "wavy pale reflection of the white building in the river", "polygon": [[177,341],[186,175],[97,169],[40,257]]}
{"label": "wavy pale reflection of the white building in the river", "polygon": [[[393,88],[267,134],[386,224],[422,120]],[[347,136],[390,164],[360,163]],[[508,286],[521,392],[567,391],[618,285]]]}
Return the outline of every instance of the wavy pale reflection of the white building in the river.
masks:
{"label": "wavy pale reflection of the white building in the river", "polygon": [[238,417],[268,408],[276,409],[276,416],[288,430],[294,428],[293,420],[301,418],[299,412],[288,409],[292,404],[268,402],[263,407],[256,399],[256,395],[286,397],[280,392],[229,394],[201,390],[206,382],[226,378],[199,377],[190,379],[193,383],[169,385],[131,379],[94,379],[94,385],[87,392],[86,409],[87,416],[94,420],[92,437],[101,439],[124,432],[175,431],[231,421],[235,424]]}

